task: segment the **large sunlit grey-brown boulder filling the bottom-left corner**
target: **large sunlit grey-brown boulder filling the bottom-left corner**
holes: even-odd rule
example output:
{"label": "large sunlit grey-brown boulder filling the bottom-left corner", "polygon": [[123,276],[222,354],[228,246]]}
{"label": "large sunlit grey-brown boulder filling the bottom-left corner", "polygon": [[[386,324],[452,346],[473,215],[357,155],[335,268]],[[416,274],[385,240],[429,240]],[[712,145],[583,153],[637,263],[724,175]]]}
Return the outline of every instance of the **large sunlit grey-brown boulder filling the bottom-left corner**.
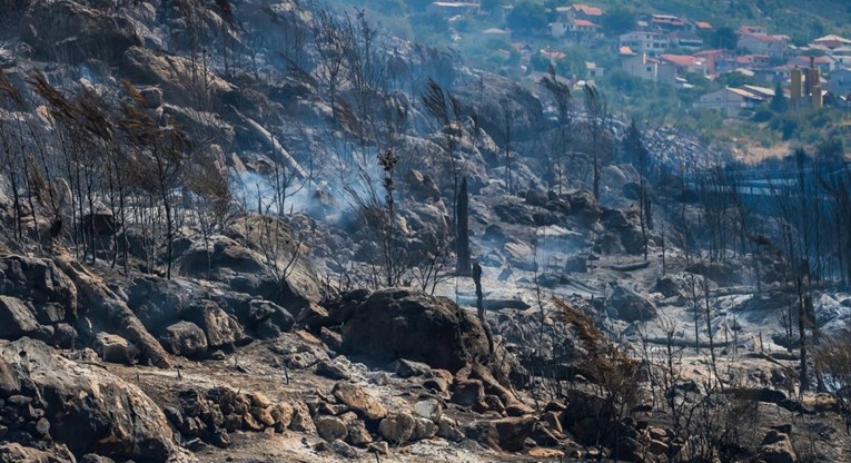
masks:
{"label": "large sunlit grey-brown boulder filling the bottom-left corner", "polygon": [[[0,359],[28,385],[24,397],[43,411],[49,435],[39,440],[62,443],[77,459],[97,453],[121,461],[191,461],[172,441],[160,408],[136,385],[29,338],[0,341]],[[26,440],[17,425],[10,435]]]}

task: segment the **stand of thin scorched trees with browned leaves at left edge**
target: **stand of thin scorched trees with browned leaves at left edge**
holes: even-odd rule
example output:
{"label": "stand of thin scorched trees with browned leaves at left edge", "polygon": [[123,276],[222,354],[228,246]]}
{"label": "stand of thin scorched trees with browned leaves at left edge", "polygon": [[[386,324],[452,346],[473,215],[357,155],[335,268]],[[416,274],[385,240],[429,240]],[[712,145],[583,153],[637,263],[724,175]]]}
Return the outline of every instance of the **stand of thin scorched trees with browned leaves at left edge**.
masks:
{"label": "stand of thin scorched trees with browned leaves at left edge", "polygon": [[87,86],[59,90],[40,72],[19,88],[0,71],[12,238],[62,240],[78,259],[111,266],[126,267],[132,253],[148,272],[164,255],[170,277],[176,230],[192,224],[210,234],[222,224],[230,180],[207,147],[147,109],[132,85],[123,90],[108,101]]}

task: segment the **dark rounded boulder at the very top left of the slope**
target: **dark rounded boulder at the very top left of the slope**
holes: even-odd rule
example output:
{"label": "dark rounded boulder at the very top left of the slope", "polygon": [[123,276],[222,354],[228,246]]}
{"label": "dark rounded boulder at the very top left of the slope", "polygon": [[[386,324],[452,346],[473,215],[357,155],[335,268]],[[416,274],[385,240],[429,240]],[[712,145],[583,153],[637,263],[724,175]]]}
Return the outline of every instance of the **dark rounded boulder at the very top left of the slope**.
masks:
{"label": "dark rounded boulder at the very top left of the slope", "polygon": [[32,2],[21,20],[21,37],[37,52],[73,62],[90,58],[116,62],[142,38],[133,22],[70,0]]}

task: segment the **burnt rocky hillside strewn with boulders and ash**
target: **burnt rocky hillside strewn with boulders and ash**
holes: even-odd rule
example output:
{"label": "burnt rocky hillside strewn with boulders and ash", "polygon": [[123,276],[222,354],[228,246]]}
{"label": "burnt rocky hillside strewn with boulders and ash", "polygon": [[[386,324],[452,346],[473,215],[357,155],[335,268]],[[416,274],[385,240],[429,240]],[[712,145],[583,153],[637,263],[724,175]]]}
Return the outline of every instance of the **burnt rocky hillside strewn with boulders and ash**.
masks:
{"label": "burnt rocky hillside strewn with boulders and ash", "polygon": [[[119,225],[111,189],[89,193],[98,206],[78,214],[52,201],[72,185],[82,195],[79,183],[29,173],[50,201],[24,194],[17,145],[0,140],[13,147],[0,171],[0,462],[851,461],[838,402],[796,393],[782,260],[715,262],[677,240],[679,218],[700,224],[701,207],[670,178],[654,181],[645,243],[642,178],[613,140],[598,198],[586,155],[568,156],[555,185],[543,95],[379,35],[393,77],[360,92],[344,78],[329,104],[334,60],[314,4],[107,3],[0,1],[0,70],[27,89],[23,106],[0,112],[2,135],[30,127],[21,152],[55,156],[48,167],[71,166],[62,154],[77,145],[136,149],[73,138],[92,127],[62,131],[57,110],[69,109],[33,90],[41,72],[73,105],[102,98],[108,125],[129,82],[139,111],[190,129],[200,164],[227,173],[232,196],[210,226],[181,191],[167,244],[150,236],[162,208],[148,190],[128,201],[150,221]],[[435,122],[423,107],[428,77],[457,97],[457,120]],[[373,116],[387,127],[363,139],[363,107],[407,119]],[[587,118],[576,119],[572,149],[587,151]],[[613,126],[616,139],[624,124]],[[661,166],[680,160],[674,151],[707,157],[663,136]],[[390,288],[374,273],[382,232],[369,223],[386,208],[374,162],[385,138],[399,154],[390,243],[406,266]],[[293,176],[283,204],[269,199],[279,169]],[[453,169],[469,194],[481,316],[447,238]],[[87,254],[77,238],[89,226]],[[813,295],[818,327],[840,332],[851,295]],[[699,351],[696,296],[710,312],[699,314]],[[702,426],[677,427],[669,400]]]}

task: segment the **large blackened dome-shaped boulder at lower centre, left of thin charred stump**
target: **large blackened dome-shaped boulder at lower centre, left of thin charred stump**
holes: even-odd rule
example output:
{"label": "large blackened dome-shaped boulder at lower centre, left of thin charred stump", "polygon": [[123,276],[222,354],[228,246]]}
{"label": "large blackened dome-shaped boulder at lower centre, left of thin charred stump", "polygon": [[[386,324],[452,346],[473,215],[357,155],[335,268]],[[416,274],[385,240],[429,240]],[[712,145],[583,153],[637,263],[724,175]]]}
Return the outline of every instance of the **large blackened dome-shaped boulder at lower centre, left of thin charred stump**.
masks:
{"label": "large blackened dome-shaped boulder at lower centre, left of thin charred stump", "polygon": [[362,296],[366,297],[343,326],[345,354],[382,364],[405,358],[451,372],[488,363],[489,344],[482,323],[448,298],[412,289]]}

